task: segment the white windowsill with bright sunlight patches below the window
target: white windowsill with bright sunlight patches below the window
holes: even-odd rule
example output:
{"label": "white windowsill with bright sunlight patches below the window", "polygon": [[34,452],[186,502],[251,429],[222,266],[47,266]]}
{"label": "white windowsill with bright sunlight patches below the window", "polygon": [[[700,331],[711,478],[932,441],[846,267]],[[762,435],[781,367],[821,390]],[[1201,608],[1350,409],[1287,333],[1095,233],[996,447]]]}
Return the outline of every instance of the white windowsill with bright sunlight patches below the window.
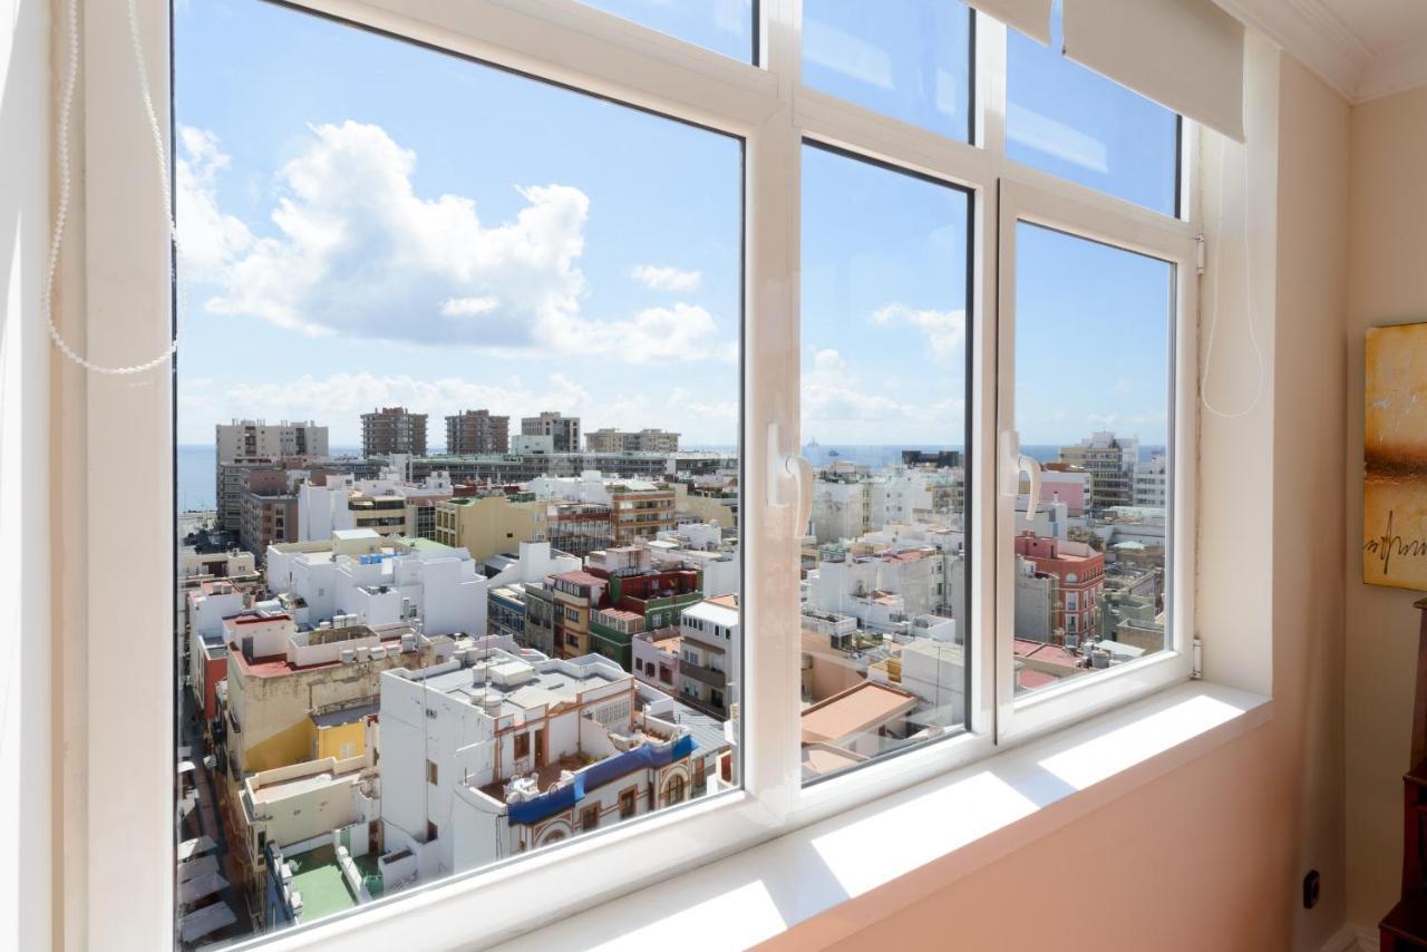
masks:
{"label": "white windowsill with bright sunlight patches below the window", "polygon": [[[1271,715],[1273,704],[1263,695],[1192,681],[499,948],[675,948],[689,936],[705,936],[714,939],[709,948],[742,949],[795,926],[805,926],[798,936],[802,943],[822,946],[1269,722]],[[900,881],[895,889],[869,896],[895,881]],[[859,903],[856,916],[822,915],[862,896],[869,899]],[[599,942],[592,943],[596,936]]]}

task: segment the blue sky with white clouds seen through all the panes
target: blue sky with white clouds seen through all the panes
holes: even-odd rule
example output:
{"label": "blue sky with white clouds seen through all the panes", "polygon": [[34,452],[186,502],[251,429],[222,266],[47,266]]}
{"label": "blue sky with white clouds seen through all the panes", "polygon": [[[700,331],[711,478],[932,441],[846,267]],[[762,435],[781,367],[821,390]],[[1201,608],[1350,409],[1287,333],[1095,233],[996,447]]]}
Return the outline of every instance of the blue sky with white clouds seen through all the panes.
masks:
{"label": "blue sky with white clouds seen through all the panes", "polygon": [[[749,0],[591,6],[752,53]],[[968,138],[969,11],[872,7],[805,0],[805,81]],[[174,27],[180,442],[243,417],[352,445],[392,404],[431,414],[434,447],[482,407],[735,442],[736,138],[261,0],[188,0]],[[1173,116],[1019,36],[1009,56],[1015,158],[1173,210]],[[968,214],[945,184],[803,150],[805,440],[963,442]],[[1167,274],[1022,241],[1023,442],[1163,442]]]}

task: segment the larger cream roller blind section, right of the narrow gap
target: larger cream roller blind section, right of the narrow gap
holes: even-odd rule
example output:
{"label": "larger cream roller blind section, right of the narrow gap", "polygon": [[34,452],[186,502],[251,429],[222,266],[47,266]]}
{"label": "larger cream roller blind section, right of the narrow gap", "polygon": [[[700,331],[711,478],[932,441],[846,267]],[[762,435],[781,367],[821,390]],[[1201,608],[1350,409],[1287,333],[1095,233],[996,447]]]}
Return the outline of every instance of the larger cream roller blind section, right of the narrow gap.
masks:
{"label": "larger cream roller blind section, right of the narrow gap", "polygon": [[1065,53],[1243,141],[1244,29],[1212,0],[1065,0]]}

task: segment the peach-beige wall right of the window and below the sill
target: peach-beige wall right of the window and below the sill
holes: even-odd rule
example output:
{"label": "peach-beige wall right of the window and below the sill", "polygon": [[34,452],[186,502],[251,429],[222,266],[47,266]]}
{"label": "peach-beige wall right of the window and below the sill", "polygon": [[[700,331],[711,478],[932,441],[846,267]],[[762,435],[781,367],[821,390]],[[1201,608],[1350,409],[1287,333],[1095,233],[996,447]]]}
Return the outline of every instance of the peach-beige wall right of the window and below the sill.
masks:
{"label": "peach-beige wall right of the window and below the sill", "polygon": [[[1251,53],[1253,87],[1269,81],[1277,56],[1259,43]],[[1223,373],[1216,394],[1237,410],[1254,391],[1251,355],[1237,353],[1247,348],[1246,287],[1230,261],[1253,261],[1254,320],[1273,367],[1253,412],[1203,422],[1199,585],[1206,667],[1217,657],[1219,677],[1236,679],[1229,661],[1251,662],[1271,649],[1273,721],[1093,819],[895,916],[859,923],[862,931],[835,948],[1317,951],[1343,925],[1344,528],[1334,501],[1344,491],[1349,108],[1287,59],[1276,90],[1277,151],[1273,128],[1254,128],[1250,116],[1259,150],[1250,206],[1267,218],[1253,220],[1251,254],[1230,226],[1227,238],[1237,244],[1226,247],[1233,253],[1222,267],[1217,345],[1230,341],[1234,353],[1224,364],[1216,357],[1214,373]],[[1271,117],[1273,91],[1254,90],[1266,113],[1259,121]],[[1240,161],[1233,148],[1227,154]],[[1276,207],[1274,194],[1260,188],[1274,164]],[[1237,168],[1241,177],[1241,163]],[[1241,178],[1230,184],[1230,194],[1243,194]],[[1418,270],[1427,274],[1427,261]],[[1249,637],[1260,627],[1271,631],[1271,648]],[[1323,899],[1311,912],[1299,901],[1309,868],[1323,875]],[[856,922],[858,906],[826,915]],[[801,941],[811,931],[793,929],[768,948],[808,948]]]}

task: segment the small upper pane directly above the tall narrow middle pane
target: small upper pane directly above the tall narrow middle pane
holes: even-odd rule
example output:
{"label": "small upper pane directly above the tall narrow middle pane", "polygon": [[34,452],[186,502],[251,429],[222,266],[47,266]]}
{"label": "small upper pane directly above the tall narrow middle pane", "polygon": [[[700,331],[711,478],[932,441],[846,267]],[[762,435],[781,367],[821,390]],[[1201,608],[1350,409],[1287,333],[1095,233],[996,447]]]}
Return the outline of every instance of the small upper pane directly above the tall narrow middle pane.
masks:
{"label": "small upper pane directly above the tall narrow middle pane", "polygon": [[956,0],[803,0],[803,83],[970,141],[972,14]]}

